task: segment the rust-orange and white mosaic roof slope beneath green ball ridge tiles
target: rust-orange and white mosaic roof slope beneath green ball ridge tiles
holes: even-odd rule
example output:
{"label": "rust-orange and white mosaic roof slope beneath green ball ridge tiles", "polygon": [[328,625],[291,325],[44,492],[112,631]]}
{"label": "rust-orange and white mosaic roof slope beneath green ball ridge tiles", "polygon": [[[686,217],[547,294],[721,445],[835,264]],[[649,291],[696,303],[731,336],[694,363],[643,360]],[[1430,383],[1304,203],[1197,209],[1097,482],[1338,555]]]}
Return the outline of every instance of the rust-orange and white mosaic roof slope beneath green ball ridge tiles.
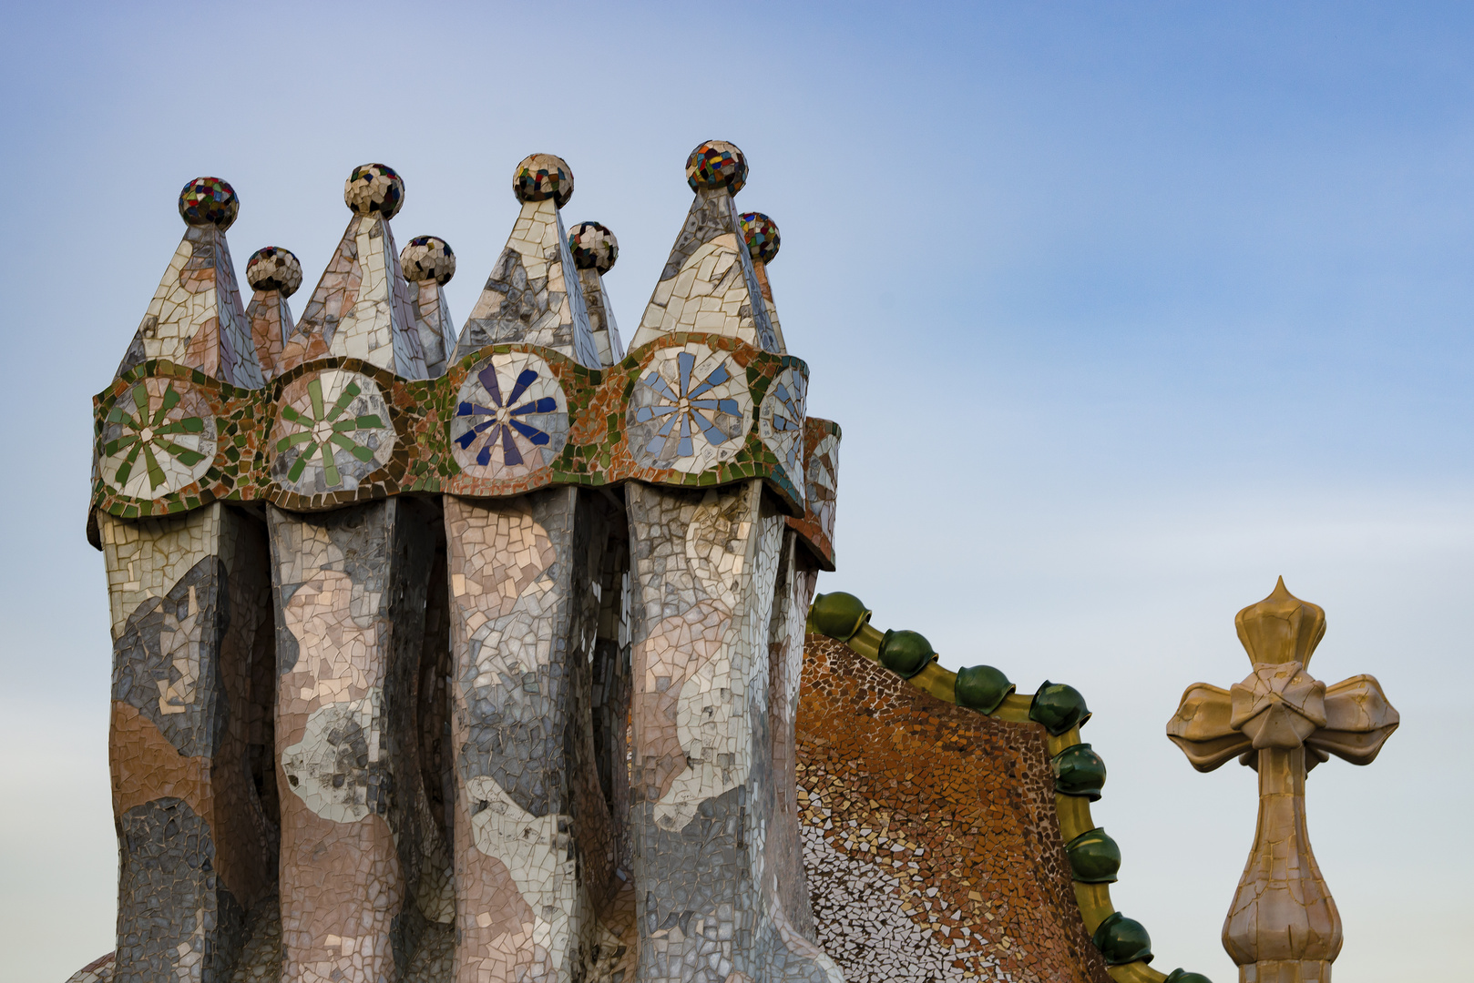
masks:
{"label": "rust-orange and white mosaic roof slope beneath green ball ridge tiles", "polygon": [[1042,727],[943,703],[809,635],[796,730],[814,920],[848,983],[1107,983]]}

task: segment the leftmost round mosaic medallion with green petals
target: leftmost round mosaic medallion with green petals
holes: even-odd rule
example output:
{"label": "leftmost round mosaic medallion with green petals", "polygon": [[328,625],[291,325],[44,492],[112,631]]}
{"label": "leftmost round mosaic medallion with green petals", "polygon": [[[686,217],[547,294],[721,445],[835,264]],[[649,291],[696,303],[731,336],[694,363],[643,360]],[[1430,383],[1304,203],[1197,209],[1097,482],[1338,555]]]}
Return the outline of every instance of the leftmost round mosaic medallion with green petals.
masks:
{"label": "leftmost round mosaic medallion with green petals", "polygon": [[215,460],[215,414],[177,379],[142,379],[103,417],[102,479],[124,495],[158,498],[198,482]]}

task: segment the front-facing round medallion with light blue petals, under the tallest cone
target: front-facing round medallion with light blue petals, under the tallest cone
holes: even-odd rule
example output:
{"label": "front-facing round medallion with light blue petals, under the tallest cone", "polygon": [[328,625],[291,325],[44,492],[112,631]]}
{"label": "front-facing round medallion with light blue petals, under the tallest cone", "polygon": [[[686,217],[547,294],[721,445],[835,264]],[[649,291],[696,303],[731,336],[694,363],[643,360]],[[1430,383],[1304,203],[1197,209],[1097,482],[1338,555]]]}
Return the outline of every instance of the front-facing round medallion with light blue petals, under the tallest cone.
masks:
{"label": "front-facing round medallion with light blue petals, under the tallest cone", "polygon": [[629,454],[646,467],[705,472],[741,449],[750,413],[746,373],[727,352],[662,348],[629,395]]}

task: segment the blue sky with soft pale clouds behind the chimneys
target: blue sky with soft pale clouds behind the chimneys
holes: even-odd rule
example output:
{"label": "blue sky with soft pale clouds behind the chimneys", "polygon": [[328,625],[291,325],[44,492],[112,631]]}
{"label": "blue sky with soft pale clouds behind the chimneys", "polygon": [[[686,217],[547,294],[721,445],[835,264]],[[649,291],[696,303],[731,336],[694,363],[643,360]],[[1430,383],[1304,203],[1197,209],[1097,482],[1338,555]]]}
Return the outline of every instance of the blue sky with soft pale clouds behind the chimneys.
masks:
{"label": "blue sky with soft pale clouds behind the chimneys", "polygon": [[1371,766],[1309,780],[1337,983],[1474,976],[1474,9],[3,7],[0,983],[113,945],[90,399],[178,189],[236,187],[237,276],[292,249],[299,314],[343,178],[389,164],[397,237],[451,243],[464,320],[514,165],[557,153],[566,223],[619,237],[628,340],[706,139],[747,155],[809,413],[845,430],[820,590],[949,668],[1085,693],[1111,895],[1153,965],[1237,979],[1254,775],[1194,772],[1163,728],[1190,684],[1248,672],[1234,613],[1284,575],[1327,610],[1312,672],[1372,674],[1402,713]]}

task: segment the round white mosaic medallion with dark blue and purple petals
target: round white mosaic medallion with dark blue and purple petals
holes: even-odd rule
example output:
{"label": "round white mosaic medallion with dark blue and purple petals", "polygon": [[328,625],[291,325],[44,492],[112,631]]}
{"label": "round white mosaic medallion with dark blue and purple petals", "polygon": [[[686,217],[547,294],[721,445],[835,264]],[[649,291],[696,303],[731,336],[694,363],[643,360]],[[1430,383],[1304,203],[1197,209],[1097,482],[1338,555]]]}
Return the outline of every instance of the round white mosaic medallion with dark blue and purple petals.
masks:
{"label": "round white mosaic medallion with dark blue and purple petals", "polygon": [[520,477],[563,452],[567,399],[531,352],[503,352],[472,368],[451,420],[451,454],[473,477]]}

